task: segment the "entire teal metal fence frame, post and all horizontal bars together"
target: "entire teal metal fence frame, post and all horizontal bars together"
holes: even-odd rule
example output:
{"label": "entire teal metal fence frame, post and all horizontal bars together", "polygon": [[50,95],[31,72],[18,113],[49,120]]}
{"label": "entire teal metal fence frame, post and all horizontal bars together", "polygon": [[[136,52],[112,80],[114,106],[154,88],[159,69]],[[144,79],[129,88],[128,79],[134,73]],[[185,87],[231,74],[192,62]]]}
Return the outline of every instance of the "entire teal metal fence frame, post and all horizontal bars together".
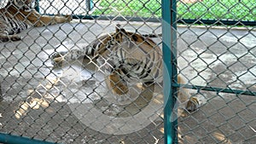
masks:
{"label": "entire teal metal fence frame, post and all horizontal bars together", "polygon": [[[35,8],[38,12],[39,9],[39,0],[36,0],[37,7]],[[92,7],[92,3],[90,0],[86,0],[87,4],[90,4]],[[256,92],[248,91],[248,90],[237,90],[237,89],[220,89],[214,87],[205,87],[205,86],[196,86],[196,85],[187,85],[187,84],[177,84],[177,23],[178,22],[186,22],[190,24],[197,24],[203,22],[204,24],[216,24],[216,25],[245,25],[245,26],[256,26],[255,21],[236,21],[236,20],[177,20],[177,2],[176,0],[161,0],[162,6],[162,33],[163,33],[163,61],[164,61],[164,97],[165,97],[165,107],[164,107],[164,128],[165,128],[165,143],[172,144],[177,143],[177,119],[172,121],[172,118],[176,118],[174,116],[175,112],[172,112],[174,108],[177,93],[177,88],[183,86],[188,89],[201,89],[207,91],[215,91],[215,92],[224,92],[224,93],[232,93],[236,95],[254,95],[256,96]],[[91,8],[90,7],[90,8]],[[111,19],[111,17],[98,17],[92,15],[73,15],[73,18],[78,19]],[[115,20],[118,18],[113,17]],[[159,19],[152,18],[129,18],[129,17],[120,17],[118,20],[147,20],[147,21],[160,21]],[[170,89],[171,88],[171,89]],[[35,140],[23,136],[17,135],[9,135],[0,133],[0,142],[9,143],[9,144],[53,144],[49,141],[40,141]]]}

